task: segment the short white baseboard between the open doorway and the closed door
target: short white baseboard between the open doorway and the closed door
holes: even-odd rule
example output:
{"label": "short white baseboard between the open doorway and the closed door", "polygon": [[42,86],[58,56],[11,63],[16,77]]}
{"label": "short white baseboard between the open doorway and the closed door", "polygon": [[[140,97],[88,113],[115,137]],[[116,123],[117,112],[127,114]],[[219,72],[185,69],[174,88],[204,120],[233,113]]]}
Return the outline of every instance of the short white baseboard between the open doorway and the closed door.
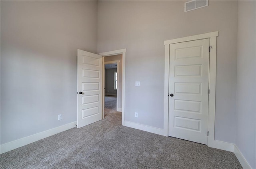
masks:
{"label": "short white baseboard between the open doorway and the closed door", "polygon": [[130,122],[130,121],[124,121],[124,126],[131,127],[134,129],[143,130],[143,131],[148,131],[148,132],[154,133],[154,134],[164,135],[164,129],[151,127],[148,125],[143,125],[143,124],[134,123],[134,122]]}

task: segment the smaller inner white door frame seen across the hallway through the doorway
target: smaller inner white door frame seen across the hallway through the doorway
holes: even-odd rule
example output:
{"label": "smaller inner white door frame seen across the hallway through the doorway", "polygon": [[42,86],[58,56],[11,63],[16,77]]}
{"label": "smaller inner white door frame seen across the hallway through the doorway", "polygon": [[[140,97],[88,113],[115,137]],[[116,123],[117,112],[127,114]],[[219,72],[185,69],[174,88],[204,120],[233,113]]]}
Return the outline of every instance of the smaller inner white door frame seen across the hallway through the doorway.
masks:
{"label": "smaller inner white door frame seen across the hallway through the doorway", "polygon": [[[116,72],[117,72],[117,86],[119,86],[119,79],[120,79],[120,75],[119,75],[119,60],[114,60],[114,61],[107,61],[104,63],[104,66],[106,64],[117,64],[117,68],[116,68]],[[103,70],[103,69],[102,69]],[[103,89],[105,88],[105,67],[104,67],[104,70],[102,71],[102,86],[103,86]],[[105,96],[105,89],[103,91],[103,95]],[[104,97],[103,97],[104,98]],[[102,103],[103,103],[103,106],[104,106],[104,102],[105,100],[102,100]],[[122,111],[122,109],[120,110],[119,109],[119,87],[117,87],[116,89],[116,111]],[[104,107],[102,107],[102,115],[104,118]]]}

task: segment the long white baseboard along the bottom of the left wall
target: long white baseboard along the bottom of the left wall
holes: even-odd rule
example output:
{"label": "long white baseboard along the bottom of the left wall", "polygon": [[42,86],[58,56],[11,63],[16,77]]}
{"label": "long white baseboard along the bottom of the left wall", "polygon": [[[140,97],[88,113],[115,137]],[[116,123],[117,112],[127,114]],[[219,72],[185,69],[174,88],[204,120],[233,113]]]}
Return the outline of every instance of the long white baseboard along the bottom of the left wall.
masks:
{"label": "long white baseboard along the bottom of the left wall", "polygon": [[76,121],[1,145],[1,154],[76,127]]}

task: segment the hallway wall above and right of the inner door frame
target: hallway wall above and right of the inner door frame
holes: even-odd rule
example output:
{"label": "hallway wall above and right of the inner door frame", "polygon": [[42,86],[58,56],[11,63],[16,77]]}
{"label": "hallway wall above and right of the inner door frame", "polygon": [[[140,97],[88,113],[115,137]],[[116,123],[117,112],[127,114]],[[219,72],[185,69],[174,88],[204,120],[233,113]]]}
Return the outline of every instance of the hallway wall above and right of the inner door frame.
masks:
{"label": "hallway wall above and right of the inner door frame", "polygon": [[[106,52],[106,51],[105,51]],[[119,60],[119,75],[118,75],[118,108],[122,109],[122,80],[123,80],[123,76],[122,76],[122,70],[123,70],[123,66],[122,66],[122,60],[123,56],[122,54],[120,55],[114,55],[114,56],[106,56],[104,57],[105,62],[107,61],[116,61]]]}

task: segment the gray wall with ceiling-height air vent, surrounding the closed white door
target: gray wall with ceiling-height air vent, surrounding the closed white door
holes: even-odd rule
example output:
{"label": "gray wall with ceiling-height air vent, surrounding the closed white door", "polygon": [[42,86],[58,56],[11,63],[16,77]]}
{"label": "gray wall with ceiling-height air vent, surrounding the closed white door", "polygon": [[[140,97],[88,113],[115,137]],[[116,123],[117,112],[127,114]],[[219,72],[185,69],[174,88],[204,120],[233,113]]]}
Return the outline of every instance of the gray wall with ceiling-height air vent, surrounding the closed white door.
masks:
{"label": "gray wall with ceiling-height air vent, surrounding the closed white door", "polygon": [[184,2],[98,1],[98,52],[126,48],[125,120],[163,128],[164,40],[219,31],[215,139],[234,143],[237,2],[186,13]]}

